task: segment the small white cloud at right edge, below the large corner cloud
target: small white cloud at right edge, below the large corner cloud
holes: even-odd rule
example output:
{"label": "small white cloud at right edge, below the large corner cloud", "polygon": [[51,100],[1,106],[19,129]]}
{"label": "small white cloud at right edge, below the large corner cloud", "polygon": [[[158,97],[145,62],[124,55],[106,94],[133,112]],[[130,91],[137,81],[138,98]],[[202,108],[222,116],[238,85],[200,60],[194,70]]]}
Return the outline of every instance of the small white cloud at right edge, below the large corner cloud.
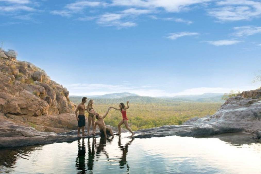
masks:
{"label": "small white cloud at right edge, below the large corner cloud", "polygon": [[253,34],[261,33],[261,27],[255,26],[234,27],[233,29],[235,32],[232,35],[237,37],[251,36]]}

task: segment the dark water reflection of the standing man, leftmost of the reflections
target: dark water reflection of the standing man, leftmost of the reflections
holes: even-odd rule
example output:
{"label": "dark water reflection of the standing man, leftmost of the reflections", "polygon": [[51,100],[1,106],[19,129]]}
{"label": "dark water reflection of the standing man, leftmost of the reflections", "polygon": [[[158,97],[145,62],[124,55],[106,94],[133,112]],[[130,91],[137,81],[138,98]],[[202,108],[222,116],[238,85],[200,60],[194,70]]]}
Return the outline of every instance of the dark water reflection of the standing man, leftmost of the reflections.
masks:
{"label": "dark water reflection of the standing man, leftmost of the reflections", "polygon": [[76,158],[76,165],[77,170],[81,170],[80,173],[85,173],[85,144],[84,144],[84,138],[82,139],[82,143],[80,143],[80,140],[78,140],[78,155]]}

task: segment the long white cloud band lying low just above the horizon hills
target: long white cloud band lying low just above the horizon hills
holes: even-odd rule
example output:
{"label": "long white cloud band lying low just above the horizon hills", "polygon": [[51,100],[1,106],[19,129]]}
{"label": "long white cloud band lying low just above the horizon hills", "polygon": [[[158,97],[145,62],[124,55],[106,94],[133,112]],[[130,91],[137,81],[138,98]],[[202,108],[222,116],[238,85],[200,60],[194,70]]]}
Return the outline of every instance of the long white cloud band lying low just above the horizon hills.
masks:
{"label": "long white cloud band lying low just above the horizon hills", "polygon": [[247,91],[258,88],[258,84],[251,86],[241,86],[233,88],[221,88],[221,87],[201,87],[190,88],[180,92],[167,92],[164,89],[155,89],[152,86],[128,86],[128,85],[110,85],[110,84],[71,84],[66,85],[66,88],[70,91],[70,95],[104,95],[118,92],[130,92],[138,94],[140,96],[161,97],[168,96],[174,97],[179,95],[200,95],[204,93],[229,93],[232,89],[235,91]]}

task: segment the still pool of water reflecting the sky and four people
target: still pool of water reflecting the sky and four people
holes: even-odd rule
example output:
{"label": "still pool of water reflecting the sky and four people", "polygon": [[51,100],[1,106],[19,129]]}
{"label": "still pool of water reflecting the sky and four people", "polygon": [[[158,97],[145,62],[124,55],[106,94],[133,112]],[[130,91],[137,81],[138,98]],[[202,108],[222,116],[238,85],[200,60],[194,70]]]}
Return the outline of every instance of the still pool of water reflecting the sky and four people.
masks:
{"label": "still pool of water reflecting the sky and four people", "polygon": [[0,150],[0,173],[261,173],[261,143],[247,134],[79,139]]}

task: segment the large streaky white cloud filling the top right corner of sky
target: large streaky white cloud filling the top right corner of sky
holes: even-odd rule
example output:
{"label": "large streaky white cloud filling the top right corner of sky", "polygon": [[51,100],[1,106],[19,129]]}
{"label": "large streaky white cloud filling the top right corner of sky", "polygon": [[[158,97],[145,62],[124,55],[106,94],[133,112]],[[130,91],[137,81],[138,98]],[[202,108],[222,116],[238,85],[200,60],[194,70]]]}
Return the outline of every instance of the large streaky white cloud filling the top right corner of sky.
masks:
{"label": "large streaky white cloud filling the top right corner of sky", "polygon": [[220,21],[249,20],[261,15],[261,2],[248,0],[227,0],[216,3],[220,8],[211,9],[208,14]]}

